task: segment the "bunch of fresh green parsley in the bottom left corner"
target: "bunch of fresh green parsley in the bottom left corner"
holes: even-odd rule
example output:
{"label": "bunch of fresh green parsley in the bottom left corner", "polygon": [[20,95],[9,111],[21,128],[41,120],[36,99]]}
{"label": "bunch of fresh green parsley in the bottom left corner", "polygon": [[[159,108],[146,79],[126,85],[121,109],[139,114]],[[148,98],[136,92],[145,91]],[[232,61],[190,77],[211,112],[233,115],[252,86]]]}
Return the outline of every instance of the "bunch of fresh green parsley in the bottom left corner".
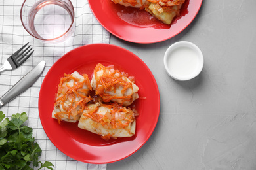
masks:
{"label": "bunch of fresh green parsley in the bottom left corner", "polygon": [[[13,114],[11,120],[5,118],[0,111],[0,170],[1,169],[42,169],[53,170],[53,164],[49,161],[38,161],[41,156],[41,148],[32,137],[33,129],[24,126],[28,120],[25,112]],[[32,163],[32,165],[31,165]]]}

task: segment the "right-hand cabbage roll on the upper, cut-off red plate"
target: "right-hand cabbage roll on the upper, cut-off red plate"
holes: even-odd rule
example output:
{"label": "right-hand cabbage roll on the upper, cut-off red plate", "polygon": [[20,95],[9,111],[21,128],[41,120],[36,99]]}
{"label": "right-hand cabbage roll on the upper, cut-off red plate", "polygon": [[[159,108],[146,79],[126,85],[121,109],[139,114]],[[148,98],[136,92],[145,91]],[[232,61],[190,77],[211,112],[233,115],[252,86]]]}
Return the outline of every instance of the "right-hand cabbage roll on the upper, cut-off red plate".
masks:
{"label": "right-hand cabbage roll on the upper, cut-off red plate", "polygon": [[175,16],[180,15],[180,9],[184,0],[148,0],[147,12],[161,20],[165,24],[171,24]]}

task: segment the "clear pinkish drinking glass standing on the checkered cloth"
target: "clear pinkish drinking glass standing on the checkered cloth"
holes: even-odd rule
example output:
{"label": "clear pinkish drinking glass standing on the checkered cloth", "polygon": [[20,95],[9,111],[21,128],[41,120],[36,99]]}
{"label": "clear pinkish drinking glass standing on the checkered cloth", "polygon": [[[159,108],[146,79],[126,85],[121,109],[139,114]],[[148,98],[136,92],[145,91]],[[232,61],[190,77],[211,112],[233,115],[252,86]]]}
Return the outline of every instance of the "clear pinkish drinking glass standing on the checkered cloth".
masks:
{"label": "clear pinkish drinking glass standing on the checkered cloth", "polygon": [[63,42],[74,32],[75,12],[70,0],[25,0],[22,25],[43,42]]}

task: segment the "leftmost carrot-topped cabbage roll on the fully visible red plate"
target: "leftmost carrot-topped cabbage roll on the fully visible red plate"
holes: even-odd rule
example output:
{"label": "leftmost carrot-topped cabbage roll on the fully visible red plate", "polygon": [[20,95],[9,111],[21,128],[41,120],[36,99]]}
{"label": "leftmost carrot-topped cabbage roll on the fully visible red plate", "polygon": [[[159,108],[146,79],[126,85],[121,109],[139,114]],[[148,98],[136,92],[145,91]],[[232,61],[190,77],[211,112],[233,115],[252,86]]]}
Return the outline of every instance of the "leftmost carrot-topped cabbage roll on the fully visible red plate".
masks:
{"label": "leftmost carrot-topped cabbage roll on the fully visible red plate", "polygon": [[52,117],[66,122],[79,120],[86,104],[91,101],[89,96],[92,90],[88,75],[80,75],[77,71],[60,78],[58,92]]}

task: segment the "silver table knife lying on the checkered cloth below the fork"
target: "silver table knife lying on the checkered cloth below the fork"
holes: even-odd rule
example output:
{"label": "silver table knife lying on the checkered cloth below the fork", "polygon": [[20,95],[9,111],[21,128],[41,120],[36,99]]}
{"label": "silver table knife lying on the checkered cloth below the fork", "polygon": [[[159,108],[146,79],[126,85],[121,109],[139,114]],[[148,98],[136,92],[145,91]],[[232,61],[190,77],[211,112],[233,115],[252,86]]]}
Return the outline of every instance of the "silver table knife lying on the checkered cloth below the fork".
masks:
{"label": "silver table knife lying on the checkered cloth below the fork", "polygon": [[39,78],[43,69],[45,68],[45,61],[41,61],[37,64],[30,72],[28,72],[25,76],[22,77],[10,90],[8,90],[1,98],[0,98],[0,107],[20,95],[20,93],[24,92],[32,84]]}

